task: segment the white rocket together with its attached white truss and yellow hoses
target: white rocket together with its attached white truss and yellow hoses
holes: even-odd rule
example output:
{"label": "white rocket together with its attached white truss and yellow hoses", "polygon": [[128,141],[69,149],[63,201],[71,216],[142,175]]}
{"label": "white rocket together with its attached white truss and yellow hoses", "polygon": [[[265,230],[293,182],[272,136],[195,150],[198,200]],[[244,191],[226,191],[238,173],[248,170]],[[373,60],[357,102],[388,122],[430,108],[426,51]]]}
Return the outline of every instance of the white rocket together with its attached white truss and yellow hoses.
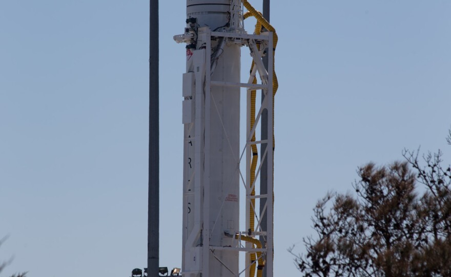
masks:
{"label": "white rocket together with its attached white truss and yellow hoses", "polygon": [[[259,22],[252,35],[243,28],[244,18],[249,16]],[[177,42],[186,43],[187,53],[182,89],[183,276],[254,277],[255,273],[261,276],[263,266],[267,277],[273,276],[273,201],[266,201],[262,213],[268,215],[267,228],[261,228],[262,214],[256,212],[256,201],[273,199],[275,75],[271,50],[275,33],[262,20],[245,0],[187,0],[185,33],[174,36]],[[260,33],[262,25],[266,30]],[[254,60],[245,83],[240,81],[242,46],[249,47]],[[269,57],[268,71],[261,60],[264,54]],[[257,72],[261,83],[254,81]],[[248,100],[247,133],[240,136],[241,87],[247,88]],[[255,103],[257,90],[270,96],[264,97],[261,106]],[[270,135],[268,140],[256,140],[264,109],[268,110]],[[245,141],[244,149],[240,149],[240,140]],[[268,161],[268,193],[264,195],[255,189],[260,172],[260,168],[256,172],[257,147],[261,145],[269,149],[260,153]],[[245,173],[240,171],[242,163]],[[245,195],[240,196],[240,186],[245,187]],[[244,230],[239,229],[240,197],[245,197],[246,203]],[[240,251],[245,253],[245,268],[239,268]]]}

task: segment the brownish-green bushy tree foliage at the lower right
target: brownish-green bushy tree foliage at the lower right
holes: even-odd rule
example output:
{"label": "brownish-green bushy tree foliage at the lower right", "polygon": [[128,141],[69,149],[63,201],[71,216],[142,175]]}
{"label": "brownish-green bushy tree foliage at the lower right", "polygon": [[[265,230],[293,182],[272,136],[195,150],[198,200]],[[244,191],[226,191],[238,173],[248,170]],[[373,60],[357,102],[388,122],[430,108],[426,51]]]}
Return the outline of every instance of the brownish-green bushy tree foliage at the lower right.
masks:
{"label": "brownish-green bushy tree foliage at the lower right", "polygon": [[451,168],[440,151],[403,156],[360,167],[355,195],[317,202],[317,236],[304,238],[305,255],[289,249],[303,276],[451,276]]}

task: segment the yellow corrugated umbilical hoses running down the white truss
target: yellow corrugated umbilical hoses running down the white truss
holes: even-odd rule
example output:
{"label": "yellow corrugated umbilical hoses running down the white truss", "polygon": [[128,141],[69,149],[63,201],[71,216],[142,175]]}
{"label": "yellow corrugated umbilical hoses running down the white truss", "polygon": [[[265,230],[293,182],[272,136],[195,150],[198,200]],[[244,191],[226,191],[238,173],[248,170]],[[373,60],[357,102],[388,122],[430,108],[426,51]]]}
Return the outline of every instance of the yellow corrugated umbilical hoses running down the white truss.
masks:
{"label": "yellow corrugated umbilical hoses running down the white truss", "polygon": [[[274,29],[273,26],[271,26],[271,24],[269,24],[269,22],[264,19],[264,17],[262,16],[262,14],[258,11],[256,11],[254,9],[254,7],[252,7],[252,5],[247,1],[247,0],[243,0],[243,5],[244,7],[248,10],[247,13],[245,13],[243,15],[244,19],[250,17],[250,16],[254,16],[257,19],[257,25],[255,26],[255,34],[259,35],[261,33],[261,29],[262,27],[266,28],[268,31],[273,32],[273,57],[275,56],[275,51],[276,51],[276,47],[277,47],[277,42],[278,42],[278,36],[276,33],[276,30]],[[274,70],[274,64],[275,64],[275,59],[273,58],[273,110],[274,110],[274,97],[277,93],[277,89],[279,87],[279,83],[277,81],[277,75],[276,72]],[[251,65],[251,72],[253,70],[255,66],[254,61],[252,61],[252,65]],[[253,84],[257,83],[257,78],[254,77],[254,80],[252,82]],[[255,124],[255,102],[256,102],[256,94],[257,91],[256,90],[251,90],[251,119],[250,119],[250,123],[251,123],[251,129]],[[273,129],[274,129],[274,113],[273,113]],[[273,132],[273,151],[275,148],[275,137],[274,137],[274,132]],[[252,140],[251,141],[255,141],[255,132],[252,135]],[[257,167],[257,161],[258,161],[258,150],[257,150],[257,146],[255,144],[253,144],[251,146],[252,148],[252,163],[251,163],[251,169],[250,169],[250,176],[251,176],[251,182],[249,184],[249,186],[252,186],[252,184],[254,183],[255,180],[255,169]],[[274,161],[274,155],[273,155],[273,161]],[[273,163],[273,176],[274,176],[274,163]],[[273,181],[274,182],[274,181]],[[251,196],[255,195],[255,186],[252,189],[251,192]],[[274,204],[274,194],[273,194],[273,204]],[[255,211],[254,211],[254,207],[255,207],[255,198],[251,199],[251,209],[250,209],[250,228],[251,231],[254,231],[254,225],[255,225]],[[274,215],[273,216],[273,220],[274,220]],[[255,243],[256,245],[259,245],[258,247],[261,247],[261,243],[259,240],[254,239],[254,238],[250,238],[250,237],[245,237],[248,239],[252,239],[252,241],[248,241],[243,239],[244,241],[248,241],[248,242],[252,242]],[[257,241],[258,244],[256,242]],[[254,247],[254,245],[252,246]],[[255,276],[255,259],[256,259],[256,255],[258,255],[258,253],[251,253],[251,267],[250,267],[250,276],[253,277]],[[257,270],[257,277],[261,277],[262,276],[262,269],[263,269],[263,260],[261,258],[261,253],[259,255],[259,259],[258,259],[258,270]],[[254,263],[254,264],[252,264]]]}

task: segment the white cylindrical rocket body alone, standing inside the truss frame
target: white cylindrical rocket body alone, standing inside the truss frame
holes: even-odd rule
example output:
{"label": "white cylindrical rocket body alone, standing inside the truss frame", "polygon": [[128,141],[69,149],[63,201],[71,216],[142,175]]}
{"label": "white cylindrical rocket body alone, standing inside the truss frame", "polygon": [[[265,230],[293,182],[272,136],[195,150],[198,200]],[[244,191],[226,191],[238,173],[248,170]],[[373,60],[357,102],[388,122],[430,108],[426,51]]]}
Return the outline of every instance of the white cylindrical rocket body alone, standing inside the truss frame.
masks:
{"label": "white cylindrical rocket body alone, standing inside the truss frame", "polygon": [[195,27],[188,24],[187,28],[195,28],[197,34],[196,45],[187,49],[183,76],[182,272],[190,277],[200,273],[232,277],[232,272],[238,272],[238,252],[214,247],[237,244],[226,233],[239,231],[240,88],[206,87],[204,74],[213,68],[212,82],[239,83],[241,49],[236,43],[211,40],[213,62],[207,64],[209,43],[201,35],[208,28],[228,28],[231,2],[187,0],[187,18],[196,20]]}

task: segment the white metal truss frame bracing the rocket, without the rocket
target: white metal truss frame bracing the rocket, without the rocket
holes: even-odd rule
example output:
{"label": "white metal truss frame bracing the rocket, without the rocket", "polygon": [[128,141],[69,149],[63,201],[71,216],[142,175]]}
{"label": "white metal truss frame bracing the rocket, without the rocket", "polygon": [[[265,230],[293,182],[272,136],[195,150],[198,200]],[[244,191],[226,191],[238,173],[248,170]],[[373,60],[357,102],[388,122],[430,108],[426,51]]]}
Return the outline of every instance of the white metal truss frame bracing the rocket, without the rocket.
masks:
{"label": "white metal truss frame bracing the rocket, without the rocket", "polygon": [[[194,221],[192,223],[187,222],[187,216],[183,215],[183,224],[192,224],[189,228],[189,233],[183,236],[183,276],[209,276],[212,264],[211,259],[218,261],[223,267],[229,271],[230,276],[241,276],[243,273],[249,277],[249,269],[252,263],[257,261],[250,260],[250,253],[258,253],[264,262],[264,266],[267,268],[267,277],[273,276],[273,253],[274,253],[274,240],[273,240],[273,33],[265,32],[260,35],[250,35],[244,32],[212,32],[208,27],[202,27],[198,29],[197,40],[205,43],[205,47],[201,47],[198,50],[192,51],[194,73],[187,73],[184,78],[193,78],[193,94],[187,95],[184,93],[185,101],[183,101],[184,109],[190,112],[183,112],[183,123],[185,123],[185,160],[189,161],[189,167],[184,167],[183,176],[183,206],[184,209],[189,209],[188,213],[194,213]],[[185,35],[174,37],[178,42],[186,42],[188,37]],[[227,82],[227,81],[212,81],[211,76],[215,70],[216,62],[220,59],[218,51],[212,53],[212,41],[219,41],[218,43],[235,43],[240,46],[247,46],[250,49],[251,56],[255,63],[251,71],[248,82]],[[260,47],[259,47],[260,45]],[[261,49],[261,50],[259,50]],[[270,51],[265,51],[269,49]],[[265,69],[262,61],[262,56],[267,55],[268,71]],[[257,75],[258,74],[258,75]],[[253,84],[255,76],[260,77],[260,83]],[[211,93],[212,87],[237,87],[247,88],[247,133],[245,135],[244,148],[239,153],[232,148],[229,141],[229,134],[226,128],[224,128],[224,119],[217,107],[217,100]],[[240,89],[241,90],[241,89]],[[251,91],[262,90],[264,100],[261,106],[257,108],[258,112],[255,118],[255,124],[251,126]],[[253,141],[252,137],[255,134],[258,125],[261,124],[260,118],[264,110],[268,111],[268,139]],[[234,234],[229,234],[224,231],[224,236],[228,236],[232,239],[231,245],[211,245],[210,240],[212,234],[217,228],[216,222],[223,212],[224,202],[226,198],[222,199],[222,204],[219,207],[215,207],[215,214],[212,210],[212,199],[210,199],[210,190],[212,189],[210,181],[210,136],[204,135],[210,132],[210,120],[212,112],[217,112],[219,116],[219,122],[222,125],[222,135],[226,137],[229,142],[230,148],[223,151],[232,151],[234,157],[233,168],[239,172],[240,185],[244,186],[245,191],[245,209],[246,230],[238,231]],[[239,130],[237,130],[239,131]],[[241,139],[240,139],[241,140]],[[262,159],[260,166],[256,172],[258,176],[262,170],[262,161],[267,160],[267,175],[268,175],[268,193],[267,194],[255,194],[252,195],[252,190],[256,186],[257,176],[251,183],[251,160],[253,153],[251,147],[253,145],[261,146],[266,145],[264,152],[262,153]],[[243,174],[240,169],[240,165],[245,163],[246,172]],[[241,167],[244,168],[244,167]],[[227,192],[226,192],[227,193]],[[238,197],[239,198],[239,197]],[[252,201],[254,199],[254,201]],[[250,226],[250,210],[258,211],[255,200],[267,199],[265,201],[264,209],[262,213],[255,214],[256,226],[253,226],[251,232]],[[193,211],[191,211],[193,209]],[[242,208],[240,208],[242,209]],[[219,211],[219,212],[216,212]],[[268,216],[268,226],[262,228],[261,218],[264,213]],[[212,224],[211,218],[216,218]],[[265,229],[265,231],[263,231]],[[250,239],[251,238],[251,239]],[[257,247],[252,241],[264,238],[265,243],[261,247]],[[234,251],[237,254],[244,252],[246,255],[245,268],[239,269],[236,272],[233,268],[228,267],[226,261],[222,261],[221,257],[215,254],[215,252],[221,251]],[[239,255],[236,255],[238,257]],[[262,267],[263,265],[259,265]],[[251,276],[253,277],[253,276]]]}

